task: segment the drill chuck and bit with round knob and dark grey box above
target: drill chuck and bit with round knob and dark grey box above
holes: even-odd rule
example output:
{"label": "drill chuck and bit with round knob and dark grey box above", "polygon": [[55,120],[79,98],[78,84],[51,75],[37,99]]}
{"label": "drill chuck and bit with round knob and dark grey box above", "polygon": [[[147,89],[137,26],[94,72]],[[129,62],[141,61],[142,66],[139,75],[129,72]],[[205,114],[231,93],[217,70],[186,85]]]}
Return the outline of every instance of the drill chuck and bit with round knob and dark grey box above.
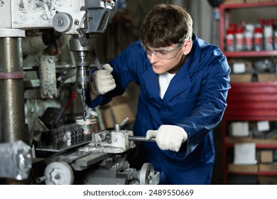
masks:
{"label": "drill chuck and bit with round knob and dark grey box above", "polygon": [[[104,33],[107,28],[109,17],[112,14],[112,9],[116,1],[85,1],[85,6],[82,6],[81,11],[85,11],[81,21],[75,23],[78,26],[77,34],[70,40],[70,50],[77,52],[79,61],[76,62],[77,88],[82,90],[82,107],[83,119],[87,119],[86,113],[86,92],[90,88],[90,63],[86,61],[87,55],[92,55],[92,59],[97,65],[97,69],[101,70],[101,64],[94,51],[95,41],[89,38],[89,34]],[[72,17],[69,14],[58,13],[54,16],[54,28],[57,31],[66,32],[72,26]]]}

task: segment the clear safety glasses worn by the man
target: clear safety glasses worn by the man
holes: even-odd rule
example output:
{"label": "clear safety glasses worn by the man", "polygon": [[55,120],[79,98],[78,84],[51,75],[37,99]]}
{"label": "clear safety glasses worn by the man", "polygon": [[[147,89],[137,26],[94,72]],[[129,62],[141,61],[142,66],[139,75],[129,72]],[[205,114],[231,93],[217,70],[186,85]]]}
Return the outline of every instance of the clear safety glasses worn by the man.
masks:
{"label": "clear safety glasses worn by the man", "polygon": [[177,55],[177,53],[179,52],[179,50],[182,48],[184,42],[182,43],[178,43],[178,45],[173,48],[159,48],[157,50],[149,50],[148,48],[146,48],[145,45],[143,45],[143,43],[141,43],[141,46],[143,48],[143,50],[147,53],[147,55],[156,55],[157,58],[163,59],[163,60],[170,60],[172,58],[175,58],[175,56]]}

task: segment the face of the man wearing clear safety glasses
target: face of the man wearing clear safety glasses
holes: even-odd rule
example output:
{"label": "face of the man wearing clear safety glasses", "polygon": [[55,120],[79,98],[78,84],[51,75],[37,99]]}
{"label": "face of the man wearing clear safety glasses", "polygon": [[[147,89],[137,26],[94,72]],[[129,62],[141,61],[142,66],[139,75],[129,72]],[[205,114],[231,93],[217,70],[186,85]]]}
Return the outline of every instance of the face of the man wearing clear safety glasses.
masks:
{"label": "face of the man wearing clear safety glasses", "polygon": [[164,72],[177,73],[183,65],[184,43],[173,44],[166,48],[146,48],[147,57],[156,74]]}

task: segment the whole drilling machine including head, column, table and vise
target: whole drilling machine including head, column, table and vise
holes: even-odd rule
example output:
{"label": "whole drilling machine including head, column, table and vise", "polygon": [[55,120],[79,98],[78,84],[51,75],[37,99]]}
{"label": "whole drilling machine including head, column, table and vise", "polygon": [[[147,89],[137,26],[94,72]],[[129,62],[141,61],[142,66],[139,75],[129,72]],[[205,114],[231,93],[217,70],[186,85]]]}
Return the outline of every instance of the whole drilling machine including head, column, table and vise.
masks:
{"label": "whole drilling machine including head, column, table and vise", "polygon": [[[21,40],[26,36],[25,31],[54,28],[59,33],[72,35],[70,50],[79,58],[76,84],[82,90],[83,119],[86,120],[85,92],[91,81],[87,56],[91,55],[97,69],[102,69],[95,53],[95,41],[90,36],[104,33],[115,4],[116,0],[1,1],[0,13],[10,17],[0,25],[0,89],[6,94],[0,99],[0,158],[3,160],[0,178],[26,180],[32,167],[31,149],[23,133],[26,131],[23,99],[26,74]],[[83,129],[71,129],[62,135],[61,141],[35,149],[54,153],[45,158],[47,166],[36,183],[72,184],[74,172],[84,171],[79,173],[84,175],[82,183],[157,184],[159,173],[150,163],[145,163],[141,171],[129,168],[127,152],[136,147],[134,141],[146,140],[121,129],[124,124],[126,121],[116,124],[114,129],[85,136]],[[13,159],[11,156],[18,162],[7,161]]]}

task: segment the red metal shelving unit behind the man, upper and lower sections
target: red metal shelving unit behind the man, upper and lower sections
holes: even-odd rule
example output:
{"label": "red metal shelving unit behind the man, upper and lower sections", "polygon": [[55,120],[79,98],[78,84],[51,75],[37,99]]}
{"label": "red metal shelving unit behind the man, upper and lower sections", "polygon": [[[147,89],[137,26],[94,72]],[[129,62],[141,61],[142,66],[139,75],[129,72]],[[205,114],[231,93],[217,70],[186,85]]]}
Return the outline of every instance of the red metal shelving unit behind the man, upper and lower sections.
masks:
{"label": "red metal shelving unit behind the man, upper and lower sections", "polygon": [[[241,9],[241,10],[239,10]],[[229,52],[224,48],[225,32],[230,23],[243,21],[246,13],[252,13],[252,21],[264,16],[256,15],[256,11],[265,11],[266,16],[277,18],[277,1],[252,4],[221,4],[219,6],[219,47],[227,58],[251,59],[277,57],[277,50],[235,51]],[[268,11],[269,10],[269,11]],[[254,12],[254,14],[253,14]],[[241,16],[239,15],[241,14]],[[258,22],[258,21],[256,21]],[[254,23],[256,23],[254,22]],[[234,169],[234,145],[237,143],[255,143],[256,150],[277,150],[277,139],[255,139],[252,137],[232,137],[228,134],[230,122],[277,122],[277,82],[231,82],[227,97],[227,109],[222,119],[222,166],[223,183],[228,184],[233,176],[276,177],[277,166],[266,170],[264,165],[249,166],[244,170]],[[233,153],[233,154],[232,154]],[[261,163],[262,164],[262,163]],[[231,166],[229,168],[229,166]],[[244,168],[244,166],[242,166]]]}

